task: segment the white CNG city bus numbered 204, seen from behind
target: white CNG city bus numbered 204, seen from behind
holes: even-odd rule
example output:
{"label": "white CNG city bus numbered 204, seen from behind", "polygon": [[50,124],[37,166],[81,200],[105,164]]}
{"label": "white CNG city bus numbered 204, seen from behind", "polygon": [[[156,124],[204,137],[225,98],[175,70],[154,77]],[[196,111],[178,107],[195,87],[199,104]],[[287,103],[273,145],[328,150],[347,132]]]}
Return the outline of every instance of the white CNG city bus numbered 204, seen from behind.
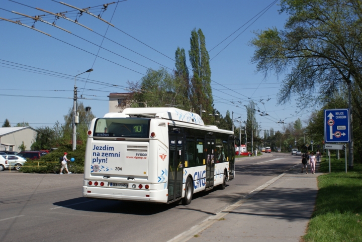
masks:
{"label": "white CNG city bus numbered 204, seen from behind", "polygon": [[126,108],[94,118],[87,134],[84,197],[189,204],[235,176],[233,132],[196,113]]}

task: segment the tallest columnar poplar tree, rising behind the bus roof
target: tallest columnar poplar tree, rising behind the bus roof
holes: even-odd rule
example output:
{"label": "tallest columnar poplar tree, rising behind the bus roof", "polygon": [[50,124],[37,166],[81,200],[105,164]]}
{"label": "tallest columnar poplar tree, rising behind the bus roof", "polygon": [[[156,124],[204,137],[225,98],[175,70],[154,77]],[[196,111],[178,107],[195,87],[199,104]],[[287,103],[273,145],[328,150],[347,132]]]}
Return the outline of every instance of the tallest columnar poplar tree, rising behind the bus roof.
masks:
{"label": "tallest columnar poplar tree, rising behind the bus roof", "polygon": [[[196,32],[196,28],[191,31],[191,48],[189,58],[193,69],[191,78],[191,103],[193,109],[206,110],[206,113],[212,113],[213,96],[211,90],[211,69],[210,56],[206,49],[205,36],[201,29]],[[204,118],[205,123],[212,123],[212,116]]]}

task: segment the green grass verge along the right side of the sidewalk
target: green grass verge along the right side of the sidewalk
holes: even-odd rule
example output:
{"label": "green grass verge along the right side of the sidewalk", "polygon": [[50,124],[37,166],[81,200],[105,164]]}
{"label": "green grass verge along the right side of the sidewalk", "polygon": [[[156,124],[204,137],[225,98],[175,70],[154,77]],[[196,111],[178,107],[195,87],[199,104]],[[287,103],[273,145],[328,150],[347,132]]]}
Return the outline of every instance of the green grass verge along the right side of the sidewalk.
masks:
{"label": "green grass verge along the right side of the sidewalk", "polygon": [[[305,241],[362,241],[362,165],[345,173],[344,159],[331,159],[331,173],[318,177],[315,211]],[[321,172],[329,172],[323,158]]]}

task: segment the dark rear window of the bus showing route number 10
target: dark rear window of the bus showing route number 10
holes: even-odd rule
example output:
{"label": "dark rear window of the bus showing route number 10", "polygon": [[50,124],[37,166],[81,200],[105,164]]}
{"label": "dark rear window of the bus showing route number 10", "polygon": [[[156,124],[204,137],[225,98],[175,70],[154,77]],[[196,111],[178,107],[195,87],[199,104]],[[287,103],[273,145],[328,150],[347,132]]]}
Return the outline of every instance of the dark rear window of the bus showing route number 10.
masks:
{"label": "dark rear window of the bus showing route number 10", "polygon": [[148,118],[98,118],[93,136],[148,138],[149,122]]}

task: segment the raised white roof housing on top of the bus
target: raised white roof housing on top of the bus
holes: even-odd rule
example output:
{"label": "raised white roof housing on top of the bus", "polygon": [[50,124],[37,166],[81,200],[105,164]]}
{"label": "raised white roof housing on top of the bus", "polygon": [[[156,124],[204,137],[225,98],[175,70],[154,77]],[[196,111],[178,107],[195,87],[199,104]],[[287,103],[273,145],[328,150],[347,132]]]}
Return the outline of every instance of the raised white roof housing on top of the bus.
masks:
{"label": "raised white roof housing on top of the bus", "polygon": [[125,108],[122,112],[109,112],[104,117],[130,116],[164,118],[205,126],[199,114],[175,107],[129,107]]}

